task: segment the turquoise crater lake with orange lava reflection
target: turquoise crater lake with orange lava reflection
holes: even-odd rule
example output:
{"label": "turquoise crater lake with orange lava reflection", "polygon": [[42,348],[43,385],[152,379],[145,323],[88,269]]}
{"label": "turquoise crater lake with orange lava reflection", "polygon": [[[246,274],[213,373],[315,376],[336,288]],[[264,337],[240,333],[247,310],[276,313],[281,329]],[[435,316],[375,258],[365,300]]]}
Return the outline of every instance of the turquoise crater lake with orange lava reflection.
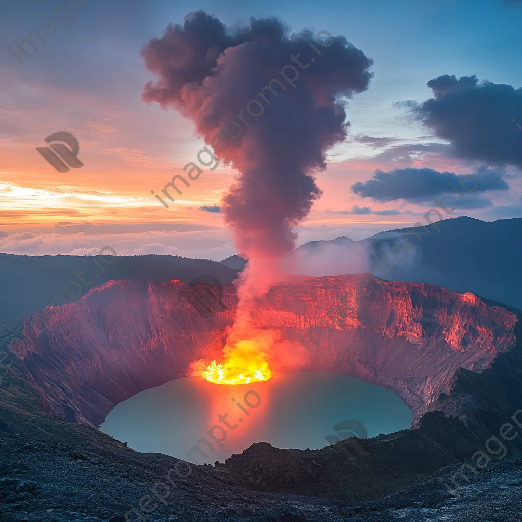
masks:
{"label": "turquoise crater lake with orange lava reflection", "polygon": [[[100,430],[139,452],[213,464],[254,442],[316,449],[353,435],[393,433],[410,428],[411,416],[386,388],[346,375],[300,371],[240,386],[176,379],[118,404]],[[191,452],[201,439],[208,444],[200,442],[201,451]]]}

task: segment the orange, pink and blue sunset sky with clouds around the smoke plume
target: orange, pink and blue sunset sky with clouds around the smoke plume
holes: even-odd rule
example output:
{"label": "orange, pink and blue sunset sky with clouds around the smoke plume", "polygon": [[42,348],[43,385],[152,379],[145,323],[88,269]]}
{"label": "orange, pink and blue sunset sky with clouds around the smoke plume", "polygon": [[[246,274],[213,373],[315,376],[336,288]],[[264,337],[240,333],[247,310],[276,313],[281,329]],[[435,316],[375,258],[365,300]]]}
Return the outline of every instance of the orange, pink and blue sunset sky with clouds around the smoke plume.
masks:
{"label": "orange, pink and blue sunset sky with clouds around the smoke plume", "polygon": [[[118,255],[220,260],[236,253],[213,208],[233,180],[231,168],[201,167],[169,208],[150,193],[197,162],[205,143],[191,120],[142,101],[157,78],[140,49],[197,9],[230,28],[275,16],[292,32],[344,35],[374,62],[369,88],[346,105],[348,139],[316,173],[323,196],[298,228],[298,243],[409,226],[438,197],[450,207],[458,196],[445,187],[462,174],[476,177],[477,193],[452,216],[522,217],[522,130],[511,121],[522,124],[522,2],[62,4],[74,21],[63,9],[56,13],[64,21],[56,21],[57,0],[2,3],[0,252],[81,255],[109,245]],[[32,30],[43,34],[45,18],[59,28],[45,42],[33,38],[38,51],[26,45],[30,57],[20,53],[20,63],[7,46],[16,50]],[[35,150],[58,131],[76,136],[83,167],[57,172]]]}

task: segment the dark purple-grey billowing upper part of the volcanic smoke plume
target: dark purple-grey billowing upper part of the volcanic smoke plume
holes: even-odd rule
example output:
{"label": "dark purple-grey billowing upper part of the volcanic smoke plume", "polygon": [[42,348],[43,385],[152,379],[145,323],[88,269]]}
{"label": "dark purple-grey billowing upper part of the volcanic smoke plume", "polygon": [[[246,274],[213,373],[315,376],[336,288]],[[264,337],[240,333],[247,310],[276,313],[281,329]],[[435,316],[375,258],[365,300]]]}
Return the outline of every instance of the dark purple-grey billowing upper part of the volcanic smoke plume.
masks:
{"label": "dark purple-grey billowing upper part of the volcanic smoke plume", "polygon": [[[239,251],[250,256],[292,251],[292,227],[321,195],[313,174],[326,167],[325,151],[346,137],[343,102],[364,91],[372,77],[372,61],[344,37],[321,40],[323,46],[309,30],[290,34],[275,18],[252,18],[229,30],[197,11],[141,51],[158,77],[146,85],[143,99],[191,118],[219,160],[239,170],[221,211]],[[289,65],[295,72],[283,70]],[[288,81],[281,72],[298,78]],[[265,91],[267,102],[258,93],[272,78],[275,92]],[[238,113],[252,100],[252,112],[261,114],[244,110],[242,123]],[[231,121],[241,125],[241,134],[230,125],[231,133],[223,132]]]}

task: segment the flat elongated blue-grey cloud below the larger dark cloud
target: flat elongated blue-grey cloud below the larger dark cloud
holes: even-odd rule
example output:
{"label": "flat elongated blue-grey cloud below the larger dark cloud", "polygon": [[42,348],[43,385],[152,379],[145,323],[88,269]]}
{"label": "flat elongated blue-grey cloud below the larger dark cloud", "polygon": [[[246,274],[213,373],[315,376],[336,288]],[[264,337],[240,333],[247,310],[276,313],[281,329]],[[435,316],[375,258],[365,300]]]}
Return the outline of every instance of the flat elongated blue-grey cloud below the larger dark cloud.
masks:
{"label": "flat elongated blue-grey cloud below the larger dark cloud", "polygon": [[[503,171],[480,167],[473,174],[477,182],[474,192],[507,190],[509,185],[502,179]],[[396,169],[391,172],[376,170],[372,179],[355,183],[352,192],[362,197],[370,197],[374,201],[396,201],[405,199],[410,202],[426,201],[439,194],[452,193],[454,186],[460,192],[461,183],[465,189],[473,187],[473,180],[466,175],[453,172],[438,172],[434,169]]]}

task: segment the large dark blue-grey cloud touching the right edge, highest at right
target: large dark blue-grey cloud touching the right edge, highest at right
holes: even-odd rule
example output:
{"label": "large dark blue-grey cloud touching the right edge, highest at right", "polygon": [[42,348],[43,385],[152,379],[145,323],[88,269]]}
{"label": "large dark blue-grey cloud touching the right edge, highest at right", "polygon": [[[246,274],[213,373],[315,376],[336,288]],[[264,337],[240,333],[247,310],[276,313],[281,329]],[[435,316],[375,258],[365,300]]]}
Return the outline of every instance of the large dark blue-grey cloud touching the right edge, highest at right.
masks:
{"label": "large dark blue-grey cloud touching the right edge, highest at right", "polygon": [[454,156],[522,167],[520,131],[522,88],[483,81],[475,76],[440,76],[428,82],[434,98],[408,102],[413,114],[451,144]]}

